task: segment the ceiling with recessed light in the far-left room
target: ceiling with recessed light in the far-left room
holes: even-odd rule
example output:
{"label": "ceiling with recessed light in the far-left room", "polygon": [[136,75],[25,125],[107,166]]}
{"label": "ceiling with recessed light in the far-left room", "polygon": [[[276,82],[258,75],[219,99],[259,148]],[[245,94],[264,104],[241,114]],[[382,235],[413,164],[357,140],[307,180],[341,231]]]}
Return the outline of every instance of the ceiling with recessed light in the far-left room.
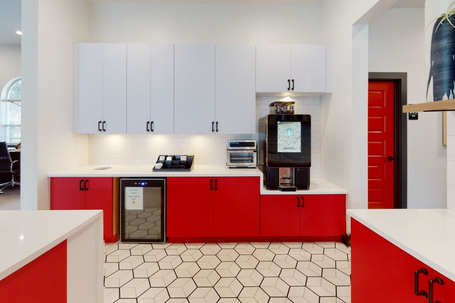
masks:
{"label": "ceiling with recessed light in the far-left room", "polygon": [[0,45],[20,45],[20,2],[21,0],[0,0]]}

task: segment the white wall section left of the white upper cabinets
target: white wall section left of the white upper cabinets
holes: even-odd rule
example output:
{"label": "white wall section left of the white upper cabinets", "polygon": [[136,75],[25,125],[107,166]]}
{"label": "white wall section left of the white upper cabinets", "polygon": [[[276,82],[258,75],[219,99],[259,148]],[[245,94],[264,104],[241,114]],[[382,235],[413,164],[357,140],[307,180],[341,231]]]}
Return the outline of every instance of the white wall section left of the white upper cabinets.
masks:
{"label": "white wall section left of the white upper cabinets", "polygon": [[49,209],[46,174],[88,163],[72,134],[73,45],[88,40],[86,0],[22,0],[21,209]]}

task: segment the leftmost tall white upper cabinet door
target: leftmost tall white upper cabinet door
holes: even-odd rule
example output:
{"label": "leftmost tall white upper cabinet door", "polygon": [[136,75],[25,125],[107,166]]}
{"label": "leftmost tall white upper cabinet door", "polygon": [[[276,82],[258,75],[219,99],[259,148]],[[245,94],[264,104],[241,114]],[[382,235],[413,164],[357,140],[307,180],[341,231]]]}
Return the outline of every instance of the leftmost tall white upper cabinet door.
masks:
{"label": "leftmost tall white upper cabinet door", "polygon": [[82,134],[101,133],[103,119],[103,45],[79,44],[78,55],[78,127]]}

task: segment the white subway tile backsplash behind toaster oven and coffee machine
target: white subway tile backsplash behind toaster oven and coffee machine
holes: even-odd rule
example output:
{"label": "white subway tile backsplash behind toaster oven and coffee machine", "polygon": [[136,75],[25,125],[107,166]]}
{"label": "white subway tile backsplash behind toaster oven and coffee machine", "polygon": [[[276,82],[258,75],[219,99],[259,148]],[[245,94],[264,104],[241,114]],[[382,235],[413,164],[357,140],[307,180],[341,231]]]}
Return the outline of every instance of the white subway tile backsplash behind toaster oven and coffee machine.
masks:
{"label": "white subway tile backsplash behind toaster oven and coffee machine", "polygon": [[[160,154],[194,154],[196,164],[226,164],[227,139],[259,141],[259,119],[281,98],[256,98],[256,134],[90,134],[90,164],[155,164]],[[320,98],[293,98],[295,114],[311,114],[311,177],[320,177]],[[264,149],[259,145],[258,161]]]}

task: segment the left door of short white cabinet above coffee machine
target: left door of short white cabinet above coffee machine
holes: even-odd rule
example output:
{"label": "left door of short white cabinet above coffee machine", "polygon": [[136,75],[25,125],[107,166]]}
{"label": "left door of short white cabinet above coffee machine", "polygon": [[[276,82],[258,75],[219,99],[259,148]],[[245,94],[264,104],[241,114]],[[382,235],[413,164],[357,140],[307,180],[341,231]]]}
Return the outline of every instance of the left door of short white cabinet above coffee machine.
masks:
{"label": "left door of short white cabinet above coffee machine", "polygon": [[256,92],[288,92],[291,79],[290,45],[256,46]]}

